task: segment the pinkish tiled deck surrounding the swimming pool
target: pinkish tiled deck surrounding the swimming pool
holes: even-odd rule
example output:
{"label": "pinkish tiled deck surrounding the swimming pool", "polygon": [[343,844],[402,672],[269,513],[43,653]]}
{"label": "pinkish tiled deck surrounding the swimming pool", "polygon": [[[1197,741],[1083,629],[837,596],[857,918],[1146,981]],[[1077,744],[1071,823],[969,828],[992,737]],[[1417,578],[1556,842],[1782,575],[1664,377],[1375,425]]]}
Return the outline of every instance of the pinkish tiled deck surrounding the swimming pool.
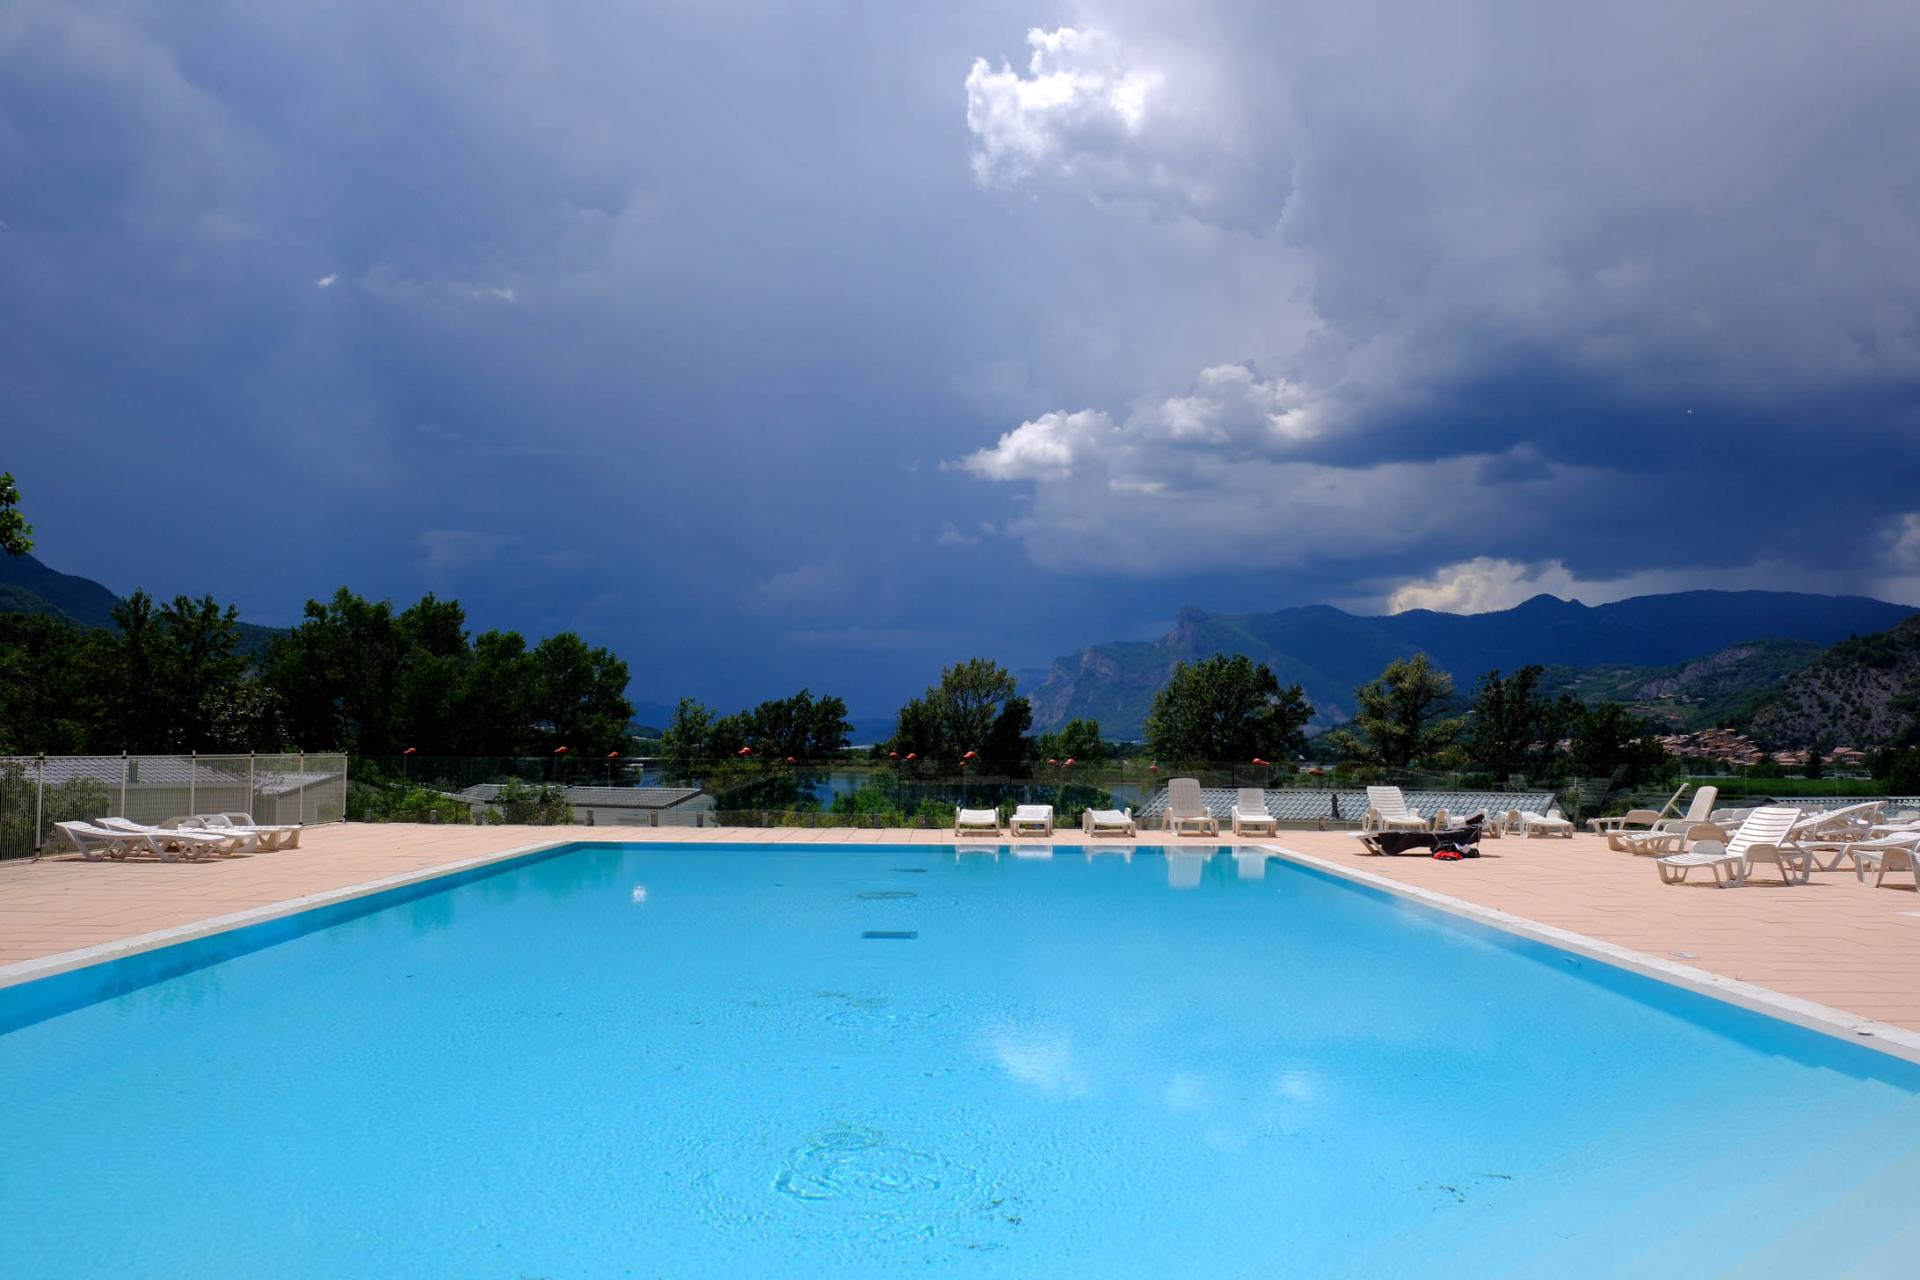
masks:
{"label": "pinkish tiled deck surrounding the swimming pool", "polygon": [[[202,862],[84,862],[77,856],[0,864],[0,986],[121,950],[213,933],[238,923],[355,896],[363,887],[422,879],[561,841],[952,844],[945,831],[804,827],[313,827],[298,850]],[[995,841],[962,841],[993,844]],[[1035,841],[1020,841],[1023,844]],[[1077,831],[1056,844],[1079,844]],[[1139,844],[1233,844],[1167,839]],[[1711,879],[1661,885],[1651,858],[1613,852],[1597,837],[1503,839],[1482,858],[1371,858],[1332,831],[1283,831],[1242,841],[1288,850],[1344,873],[1444,894],[1549,931],[1626,948],[1657,965],[1684,965],[1845,1013],[1920,1032],[1920,894],[1912,877],[1860,885],[1853,871],[1816,871],[1784,887],[1761,869],[1743,889]],[[1899,885],[1895,889],[1895,883]],[[148,935],[167,933],[167,938]],[[84,960],[69,952],[96,948]],[[67,958],[48,963],[52,958]],[[1655,967],[1657,967],[1655,965]]]}

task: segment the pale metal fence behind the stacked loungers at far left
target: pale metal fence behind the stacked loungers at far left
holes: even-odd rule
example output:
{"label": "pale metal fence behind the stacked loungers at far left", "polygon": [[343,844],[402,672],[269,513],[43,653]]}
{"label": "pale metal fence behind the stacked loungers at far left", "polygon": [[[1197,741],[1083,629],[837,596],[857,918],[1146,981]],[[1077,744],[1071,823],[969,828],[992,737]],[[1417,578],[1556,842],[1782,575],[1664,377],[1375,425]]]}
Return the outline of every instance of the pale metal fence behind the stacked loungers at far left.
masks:
{"label": "pale metal fence behind the stacked loungers at far left", "polygon": [[0,858],[58,844],[56,821],[252,814],[261,823],[346,818],[348,758],[8,756],[0,758]]}

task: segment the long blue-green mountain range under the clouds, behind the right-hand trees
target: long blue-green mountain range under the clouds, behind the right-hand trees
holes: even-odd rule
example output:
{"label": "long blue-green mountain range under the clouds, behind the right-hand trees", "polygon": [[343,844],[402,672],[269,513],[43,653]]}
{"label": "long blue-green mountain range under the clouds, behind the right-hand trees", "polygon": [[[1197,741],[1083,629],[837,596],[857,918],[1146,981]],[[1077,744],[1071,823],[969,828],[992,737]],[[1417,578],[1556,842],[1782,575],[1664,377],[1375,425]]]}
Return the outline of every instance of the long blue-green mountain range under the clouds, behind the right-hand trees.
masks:
{"label": "long blue-green mountain range under the clouds, behind the right-hand trees", "polygon": [[[1329,604],[1271,614],[1187,608],[1173,631],[1158,641],[1091,645],[1058,658],[1029,697],[1039,729],[1091,716],[1114,737],[1139,737],[1154,691],[1165,683],[1175,662],[1244,652],[1269,664],[1281,683],[1298,681],[1317,710],[1315,723],[1331,725],[1352,716],[1356,685],[1413,652],[1430,654],[1461,689],[1492,668],[1511,672],[1530,662],[1582,672],[1655,668],[1632,672],[1630,679],[1680,681],[1680,672],[1667,668],[1707,662],[1701,654],[1718,658],[1732,645],[1759,639],[1832,645],[1847,635],[1889,628],[1908,614],[1910,608],[1885,601],[1789,591],[1680,591],[1599,606],[1536,595],[1492,614],[1411,610],[1386,618],[1365,618]],[[1738,676],[1789,660],[1788,651],[1766,649],[1745,658],[1720,658],[1720,666],[1736,668]],[[1707,699],[1705,689],[1716,683],[1713,670],[1709,666],[1684,683]],[[1740,679],[1728,679],[1728,687],[1713,699],[1734,697]]]}

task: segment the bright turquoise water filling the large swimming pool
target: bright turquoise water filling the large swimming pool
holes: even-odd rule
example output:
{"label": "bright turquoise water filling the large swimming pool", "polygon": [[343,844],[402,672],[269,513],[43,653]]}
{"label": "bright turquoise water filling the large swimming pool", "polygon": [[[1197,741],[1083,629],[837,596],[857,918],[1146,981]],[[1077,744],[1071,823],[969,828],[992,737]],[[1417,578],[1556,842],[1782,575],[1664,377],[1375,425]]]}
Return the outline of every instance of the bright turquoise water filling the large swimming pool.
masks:
{"label": "bright turquoise water filling the large swimming pool", "polygon": [[1039,852],[576,846],[0,990],[0,1274],[1914,1272],[1908,1063]]}

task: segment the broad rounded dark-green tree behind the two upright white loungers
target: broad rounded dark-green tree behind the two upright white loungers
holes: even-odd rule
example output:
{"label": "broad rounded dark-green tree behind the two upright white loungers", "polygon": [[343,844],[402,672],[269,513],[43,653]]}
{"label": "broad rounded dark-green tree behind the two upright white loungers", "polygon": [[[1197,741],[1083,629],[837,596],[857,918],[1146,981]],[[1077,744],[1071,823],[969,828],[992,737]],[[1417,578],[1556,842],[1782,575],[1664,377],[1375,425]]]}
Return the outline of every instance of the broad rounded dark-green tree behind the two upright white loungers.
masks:
{"label": "broad rounded dark-green tree behind the two upright white loungers", "polygon": [[1267,664],[1244,654],[1177,662],[1146,712],[1146,745],[1164,760],[1286,760],[1306,750],[1313,718],[1300,685],[1281,689]]}

